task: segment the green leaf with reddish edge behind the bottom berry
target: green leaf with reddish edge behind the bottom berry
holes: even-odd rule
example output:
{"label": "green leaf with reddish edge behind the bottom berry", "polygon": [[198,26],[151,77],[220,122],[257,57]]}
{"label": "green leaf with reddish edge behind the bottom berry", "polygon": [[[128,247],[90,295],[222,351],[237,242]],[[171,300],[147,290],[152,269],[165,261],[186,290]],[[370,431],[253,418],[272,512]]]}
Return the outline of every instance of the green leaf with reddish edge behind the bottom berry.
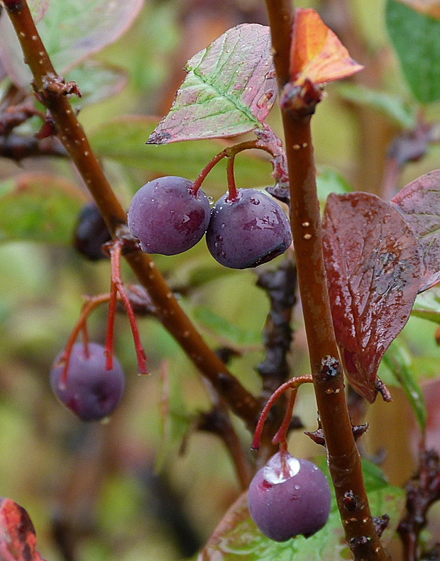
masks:
{"label": "green leaf with reddish edge behind the bottom berry", "polygon": [[[318,462],[317,462],[318,463]],[[329,477],[325,459],[321,469]],[[373,516],[387,513],[390,525],[383,534],[383,543],[392,538],[405,506],[405,491],[387,484],[378,467],[363,462],[365,486]],[[331,513],[326,526],[304,538],[298,535],[287,542],[266,538],[253,523],[248,512],[247,494],[243,493],[231,506],[219,526],[199,554],[198,561],[340,561],[351,554],[343,535],[341,518],[332,492]]]}

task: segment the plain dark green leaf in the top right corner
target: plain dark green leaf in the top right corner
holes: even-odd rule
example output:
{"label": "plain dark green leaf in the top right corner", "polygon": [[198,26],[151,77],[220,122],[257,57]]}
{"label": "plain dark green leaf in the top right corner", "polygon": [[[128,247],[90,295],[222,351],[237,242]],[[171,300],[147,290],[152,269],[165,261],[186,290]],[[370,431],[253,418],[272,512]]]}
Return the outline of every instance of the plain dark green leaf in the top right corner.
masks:
{"label": "plain dark green leaf in the top right corner", "polygon": [[387,0],[386,23],[414,97],[424,104],[440,99],[440,21]]}

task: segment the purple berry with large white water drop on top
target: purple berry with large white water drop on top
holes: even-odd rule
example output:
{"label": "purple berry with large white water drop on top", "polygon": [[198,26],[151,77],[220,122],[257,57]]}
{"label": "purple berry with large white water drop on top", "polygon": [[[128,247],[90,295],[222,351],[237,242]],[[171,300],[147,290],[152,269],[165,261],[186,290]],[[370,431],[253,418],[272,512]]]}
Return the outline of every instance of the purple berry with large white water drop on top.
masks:
{"label": "purple berry with large white water drop on top", "polygon": [[284,542],[320,530],[330,513],[330,488],[319,467],[287,454],[290,477],[281,469],[280,452],[255,474],[248,491],[251,518],[271,540]]}

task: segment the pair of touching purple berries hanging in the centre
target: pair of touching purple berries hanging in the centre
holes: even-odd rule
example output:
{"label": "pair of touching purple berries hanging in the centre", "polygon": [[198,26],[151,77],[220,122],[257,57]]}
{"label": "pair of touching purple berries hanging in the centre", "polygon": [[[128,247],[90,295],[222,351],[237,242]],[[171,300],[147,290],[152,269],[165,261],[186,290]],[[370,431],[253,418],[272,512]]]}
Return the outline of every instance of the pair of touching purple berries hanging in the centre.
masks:
{"label": "pair of touching purple berries hanging in the centre", "polygon": [[212,257],[225,267],[246,269],[281,255],[292,243],[285,213],[268,195],[238,189],[214,204],[183,177],[159,177],[133,196],[128,226],[143,251],[175,255],[206,233]]}

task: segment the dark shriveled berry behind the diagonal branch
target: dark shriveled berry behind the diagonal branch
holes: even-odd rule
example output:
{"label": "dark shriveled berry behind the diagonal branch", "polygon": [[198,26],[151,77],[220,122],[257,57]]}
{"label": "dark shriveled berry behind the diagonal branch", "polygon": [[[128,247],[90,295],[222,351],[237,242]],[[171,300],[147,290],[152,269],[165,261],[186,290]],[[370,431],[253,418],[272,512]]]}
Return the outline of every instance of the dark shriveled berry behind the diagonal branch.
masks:
{"label": "dark shriveled berry behind the diagonal branch", "polygon": [[94,203],[86,204],[79,211],[74,248],[91,261],[105,259],[101,245],[111,240],[110,232]]}

